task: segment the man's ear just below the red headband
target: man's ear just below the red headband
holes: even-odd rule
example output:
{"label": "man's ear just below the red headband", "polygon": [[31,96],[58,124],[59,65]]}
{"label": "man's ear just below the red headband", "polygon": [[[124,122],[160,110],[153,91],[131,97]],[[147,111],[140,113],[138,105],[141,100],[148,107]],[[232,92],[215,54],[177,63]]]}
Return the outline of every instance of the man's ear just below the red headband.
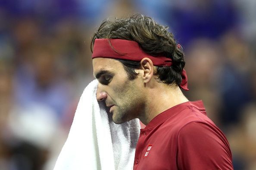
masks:
{"label": "man's ear just below the red headband", "polygon": [[141,69],[143,71],[142,78],[144,83],[150,82],[154,73],[154,65],[152,60],[150,60],[150,58],[143,58],[140,61],[140,64],[141,64]]}

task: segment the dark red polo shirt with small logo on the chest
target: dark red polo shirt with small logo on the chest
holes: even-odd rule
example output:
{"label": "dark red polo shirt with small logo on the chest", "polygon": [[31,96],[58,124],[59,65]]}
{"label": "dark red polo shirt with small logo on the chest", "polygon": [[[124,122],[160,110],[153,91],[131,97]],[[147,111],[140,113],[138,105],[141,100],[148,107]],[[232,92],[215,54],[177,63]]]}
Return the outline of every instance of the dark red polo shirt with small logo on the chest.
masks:
{"label": "dark red polo shirt with small logo on the chest", "polygon": [[134,170],[233,170],[228,140],[203,102],[165,110],[140,130]]}

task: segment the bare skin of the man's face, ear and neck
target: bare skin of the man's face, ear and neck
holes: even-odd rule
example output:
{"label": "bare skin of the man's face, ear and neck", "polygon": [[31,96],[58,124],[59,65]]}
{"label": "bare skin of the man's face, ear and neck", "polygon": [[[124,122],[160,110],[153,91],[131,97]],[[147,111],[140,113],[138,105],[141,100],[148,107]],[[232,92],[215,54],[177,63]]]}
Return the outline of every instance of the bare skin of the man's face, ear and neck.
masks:
{"label": "bare skin of the man's face, ear and neck", "polygon": [[97,100],[105,101],[116,124],[139,118],[147,125],[166,109],[188,101],[177,85],[156,81],[156,68],[149,58],[143,58],[140,64],[137,78],[129,80],[121,62],[93,59],[94,76],[99,81]]}

